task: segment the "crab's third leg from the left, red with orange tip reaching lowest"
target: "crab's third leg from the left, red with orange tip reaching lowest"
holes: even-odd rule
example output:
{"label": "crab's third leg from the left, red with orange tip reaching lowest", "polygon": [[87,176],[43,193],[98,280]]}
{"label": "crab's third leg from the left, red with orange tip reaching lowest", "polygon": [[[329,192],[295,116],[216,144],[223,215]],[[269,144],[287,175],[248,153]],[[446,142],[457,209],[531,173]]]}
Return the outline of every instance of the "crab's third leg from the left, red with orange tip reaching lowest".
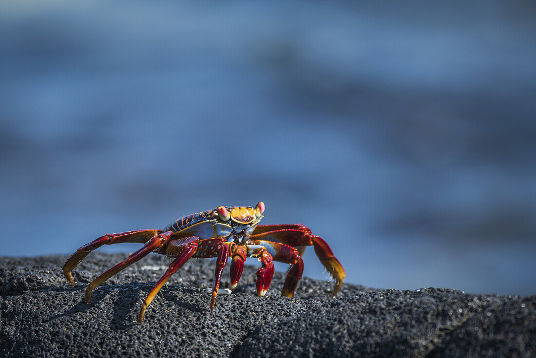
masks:
{"label": "crab's third leg from the left, red with orange tip reaching lowest", "polygon": [[177,272],[179,268],[181,268],[182,265],[184,265],[185,262],[187,262],[190,257],[193,256],[193,254],[197,250],[199,238],[197,236],[188,236],[183,238],[178,238],[177,240],[173,240],[168,243],[168,247],[166,248],[166,254],[167,255],[176,255],[177,257],[173,262],[169,265],[169,268],[167,269],[166,273],[162,275],[160,280],[158,280],[157,284],[154,285],[153,289],[151,289],[151,292],[147,295],[145,301],[142,305],[142,310],[139,312],[139,319],[138,322],[142,322],[143,316],[145,315],[145,310],[147,309],[148,305],[151,303],[151,301],[154,299],[154,296],[157,295],[160,288],[169,280],[172,274]]}

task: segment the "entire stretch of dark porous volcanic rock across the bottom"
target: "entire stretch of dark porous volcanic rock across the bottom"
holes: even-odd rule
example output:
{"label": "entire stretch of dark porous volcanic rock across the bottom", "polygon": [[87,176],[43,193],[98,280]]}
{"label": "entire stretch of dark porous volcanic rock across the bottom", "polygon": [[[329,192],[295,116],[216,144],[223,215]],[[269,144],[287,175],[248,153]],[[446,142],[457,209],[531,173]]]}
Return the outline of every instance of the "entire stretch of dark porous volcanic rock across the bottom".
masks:
{"label": "entire stretch of dark porous volcanic rock across the bottom", "polygon": [[91,305],[84,284],[126,255],[92,253],[74,272],[76,287],[63,278],[66,258],[0,257],[0,357],[536,356],[536,295],[345,284],[332,300],[332,283],[303,278],[288,299],[279,296],[285,273],[276,272],[267,296],[256,297],[257,267],[247,265],[241,285],[218,295],[211,312],[214,262],[193,260],[139,324],[169,258],[126,268],[95,290]]}

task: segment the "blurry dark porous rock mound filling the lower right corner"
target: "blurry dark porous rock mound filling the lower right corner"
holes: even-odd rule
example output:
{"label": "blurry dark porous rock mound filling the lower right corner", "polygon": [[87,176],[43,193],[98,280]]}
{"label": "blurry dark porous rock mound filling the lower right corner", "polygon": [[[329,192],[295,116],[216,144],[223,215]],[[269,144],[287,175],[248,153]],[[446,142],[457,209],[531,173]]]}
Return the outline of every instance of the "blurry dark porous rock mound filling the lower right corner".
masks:
{"label": "blurry dark porous rock mound filling the lower right corner", "polygon": [[535,302],[436,288],[362,293],[257,329],[238,356],[534,357]]}

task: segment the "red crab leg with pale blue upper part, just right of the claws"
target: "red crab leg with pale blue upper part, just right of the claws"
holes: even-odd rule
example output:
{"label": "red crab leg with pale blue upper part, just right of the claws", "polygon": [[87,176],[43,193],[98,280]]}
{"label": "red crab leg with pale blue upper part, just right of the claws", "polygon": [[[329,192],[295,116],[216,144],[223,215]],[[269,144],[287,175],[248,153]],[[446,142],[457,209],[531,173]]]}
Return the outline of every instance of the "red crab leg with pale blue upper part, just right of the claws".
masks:
{"label": "red crab leg with pale blue upper part, just right of the claws", "polygon": [[292,297],[298,285],[298,281],[300,281],[303,274],[303,260],[298,251],[289,245],[279,242],[265,240],[253,240],[251,242],[255,245],[264,246],[269,250],[274,261],[291,265],[291,268],[289,268],[287,272],[281,295]]}

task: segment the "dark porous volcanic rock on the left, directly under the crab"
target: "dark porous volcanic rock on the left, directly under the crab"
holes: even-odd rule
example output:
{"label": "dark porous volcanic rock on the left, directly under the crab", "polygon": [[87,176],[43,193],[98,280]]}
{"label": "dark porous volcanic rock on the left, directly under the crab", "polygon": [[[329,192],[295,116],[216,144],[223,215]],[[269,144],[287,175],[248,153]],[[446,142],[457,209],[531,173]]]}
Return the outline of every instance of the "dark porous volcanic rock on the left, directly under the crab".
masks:
{"label": "dark porous volcanic rock on the left, directly under the crab", "polygon": [[[276,272],[267,297],[257,297],[258,267],[247,265],[240,286],[219,295],[210,312],[206,288],[214,260],[193,260],[160,290],[138,324],[143,300],[171,262],[165,256],[140,260],[96,289],[91,305],[84,301],[85,284],[126,257],[92,253],[74,272],[77,287],[63,278],[68,256],[0,258],[0,357],[229,356],[256,327],[329,302],[333,285],[303,278],[296,298],[288,299],[279,295],[285,273]],[[345,285],[341,293],[366,290]]]}

